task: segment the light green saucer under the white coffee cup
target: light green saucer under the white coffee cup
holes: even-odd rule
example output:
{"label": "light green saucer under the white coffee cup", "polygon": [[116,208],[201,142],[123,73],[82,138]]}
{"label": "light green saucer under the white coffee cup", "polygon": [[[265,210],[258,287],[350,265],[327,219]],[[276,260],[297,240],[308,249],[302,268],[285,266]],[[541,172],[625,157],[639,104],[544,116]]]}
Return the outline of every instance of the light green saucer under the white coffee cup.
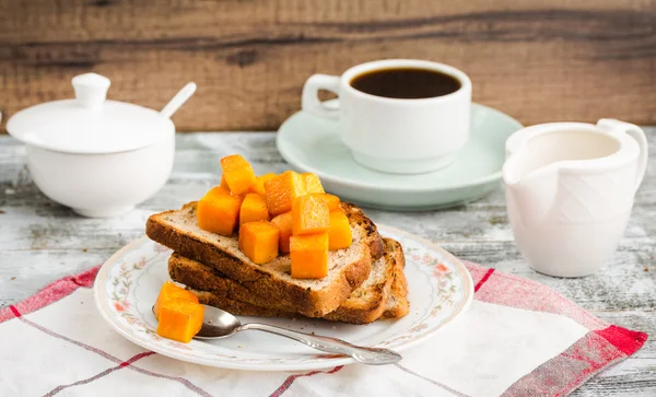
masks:
{"label": "light green saucer under the white coffee cup", "polygon": [[[332,102],[332,101],[331,101]],[[446,168],[419,175],[386,174],[353,160],[337,121],[298,112],[278,130],[280,154],[300,172],[321,178],[326,191],[363,207],[418,211],[476,200],[499,187],[505,140],[523,126],[493,108],[472,104],[467,145]]]}

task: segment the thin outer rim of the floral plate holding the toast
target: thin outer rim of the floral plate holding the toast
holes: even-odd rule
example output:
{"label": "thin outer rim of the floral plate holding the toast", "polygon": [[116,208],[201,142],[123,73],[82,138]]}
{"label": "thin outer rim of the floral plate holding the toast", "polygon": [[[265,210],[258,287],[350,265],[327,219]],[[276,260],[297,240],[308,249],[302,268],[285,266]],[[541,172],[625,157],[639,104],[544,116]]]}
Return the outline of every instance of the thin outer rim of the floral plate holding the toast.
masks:
{"label": "thin outer rim of the floral plate holding the toast", "polygon": [[[438,328],[434,329],[430,334],[418,337],[418,338],[411,340],[410,342],[395,349],[396,351],[403,351],[403,350],[413,348],[422,342],[425,342],[430,338],[433,338],[436,334],[438,334],[442,329],[444,329],[444,327],[453,324],[455,320],[458,319],[458,317],[461,317],[461,315],[469,310],[471,302],[473,301],[473,293],[475,293],[473,279],[471,278],[471,273],[469,272],[469,270],[467,269],[467,267],[465,266],[465,264],[462,264],[462,261],[460,259],[458,259],[456,256],[450,254],[448,250],[440,247],[437,244],[435,244],[426,238],[423,238],[421,236],[418,236],[415,234],[412,234],[412,233],[409,233],[409,232],[406,232],[406,231],[402,231],[402,230],[399,230],[399,229],[396,229],[393,226],[387,226],[384,224],[379,224],[377,226],[382,231],[382,234],[385,234],[385,231],[387,230],[387,231],[390,231],[391,233],[400,234],[407,238],[411,238],[417,242],[420,242],[421,244],[426,245],[431,249],[438,252],[441,255],[443,255],[445,258],[447,258],[454,265],[454,267],[456,269],[458,269],[458,273],[460,273],[462,277],[462,283],[464,283],[462,301],[459,302],[459,304],[455,307],[454,312],[444,319],[444,322],[442,323],[442,325]],[[338,366],[338,365],[348,365],[348,364],[356,363],[356,361],[351,358],[330,358],[330,359],[324,359],[324,360],[314,361],[314,362],[311,361],[311,362],[304,362],[304,363],[290,363],[290,364],[270,363],[270,364],[266,364],[266,365],[248,364],[248,363],[239,364],[239,363],[232,363],[232,362],[210,361],[210,360],[206,360],[203,358],[181,354],[181,353],[176,352],[175,350],[167,349],[164,346],[152,345],[152,343],[149,343],[148,341],[141,340],[141,339],[132,336],[130,332],[122,329],[122,325],[119,322],[115,320],[115,316],[112,315],[112,312],[108,307],[107,296],[103,295],[103,292],[105,289],[105,283],[107,280],[107,275],[108,275],[109,268],[113,267],[114,265],[116,265],[116,262],[118,261],[118,259],[120,257],[122,257],[125,254],[129,253],[131,249],[133,249],[134,246],[140,245],[145,240],[150,240],[150,238],[147,235],[141,236],[137,240],[133,240],[132,242],[125,245],[124,247],[118,249],[116,253],[114,253],[103,264],[103,266],[98,270],[96,278],[94,280],[94,283],[93,283],[93,297],[95,301],[96,310],[99,312],[101,317],[103,317],[103,319],[106,323],[108,323],[109,326],[115,331],[117,331],[119,335],[121,335],[124,338],[126,338],[130,342],[132,342],[143,349],[154,351],[159,354],[162,354],[164,357],[168,357],[168,358],[172,358],[175,360],[195,363],[195,364],[199,364],[199,365],[211,366],[211,367],[229,369],[229,370],[306,371],[306,370],[320,370],[320,369],[326,369],[326,367],[333,367],[333,366]]]}

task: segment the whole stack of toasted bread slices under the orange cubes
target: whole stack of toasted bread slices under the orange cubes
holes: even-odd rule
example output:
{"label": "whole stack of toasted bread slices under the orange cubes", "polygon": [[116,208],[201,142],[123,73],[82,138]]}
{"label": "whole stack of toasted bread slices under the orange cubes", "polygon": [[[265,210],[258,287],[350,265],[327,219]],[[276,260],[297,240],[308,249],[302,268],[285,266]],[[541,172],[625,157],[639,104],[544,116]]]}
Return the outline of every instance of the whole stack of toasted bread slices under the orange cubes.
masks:
{"label": "whole stack of toasted bread slices under the orange cubes", "polygon": [[353,243],[328,257],[328,276],[291,277],[290,256],[257,265],[239,250],[236,236],[201,230],[197,203],[150,217],[148,236],[173,249],[168,273],[200,303],[235,315],[314,317],[349,324],[408,314],[408,284],[401,245],[383,238],[354,205],[341,202]]}

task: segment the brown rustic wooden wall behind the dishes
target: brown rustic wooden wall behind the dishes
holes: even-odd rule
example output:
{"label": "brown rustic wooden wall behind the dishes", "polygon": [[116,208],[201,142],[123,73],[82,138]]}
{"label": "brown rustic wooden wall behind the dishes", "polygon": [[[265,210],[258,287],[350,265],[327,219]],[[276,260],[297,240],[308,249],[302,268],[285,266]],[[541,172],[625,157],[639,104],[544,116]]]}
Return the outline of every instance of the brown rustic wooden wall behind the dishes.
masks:
{"label": "brown rustic wooden wall behind the dishes", "polygon": [[[390,57],[452,63],[525,124],[656,124],[656,0],[0,0],[0,112],[109,77],[179,130],[273,129],[305,79]],[[4,122],[2,122],[4,125]]]}

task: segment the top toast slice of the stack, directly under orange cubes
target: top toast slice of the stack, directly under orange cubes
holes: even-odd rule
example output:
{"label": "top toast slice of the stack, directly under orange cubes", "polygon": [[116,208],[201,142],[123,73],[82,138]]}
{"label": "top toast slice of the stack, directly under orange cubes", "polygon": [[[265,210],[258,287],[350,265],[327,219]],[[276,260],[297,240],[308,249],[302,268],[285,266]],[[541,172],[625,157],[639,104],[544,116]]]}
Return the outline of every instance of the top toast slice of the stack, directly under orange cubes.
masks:
{"label": "top toast slice of the stack, directly under orange cubes", "polygon": [[318,280],[292,278],[289,255],[268,264],[254,264],[239,250],[236,235],[222,236],[198,226],[196,202],[150,217],[145,233],[179,255],[238,282],[262,302],[286,302],[292,312],[323,317],[368,278],[372,256],[383,255],[383,242],[374,223],[360,208],[345,202],[341,207],[351,223],[353,244],[330,252],[328,276]]}

